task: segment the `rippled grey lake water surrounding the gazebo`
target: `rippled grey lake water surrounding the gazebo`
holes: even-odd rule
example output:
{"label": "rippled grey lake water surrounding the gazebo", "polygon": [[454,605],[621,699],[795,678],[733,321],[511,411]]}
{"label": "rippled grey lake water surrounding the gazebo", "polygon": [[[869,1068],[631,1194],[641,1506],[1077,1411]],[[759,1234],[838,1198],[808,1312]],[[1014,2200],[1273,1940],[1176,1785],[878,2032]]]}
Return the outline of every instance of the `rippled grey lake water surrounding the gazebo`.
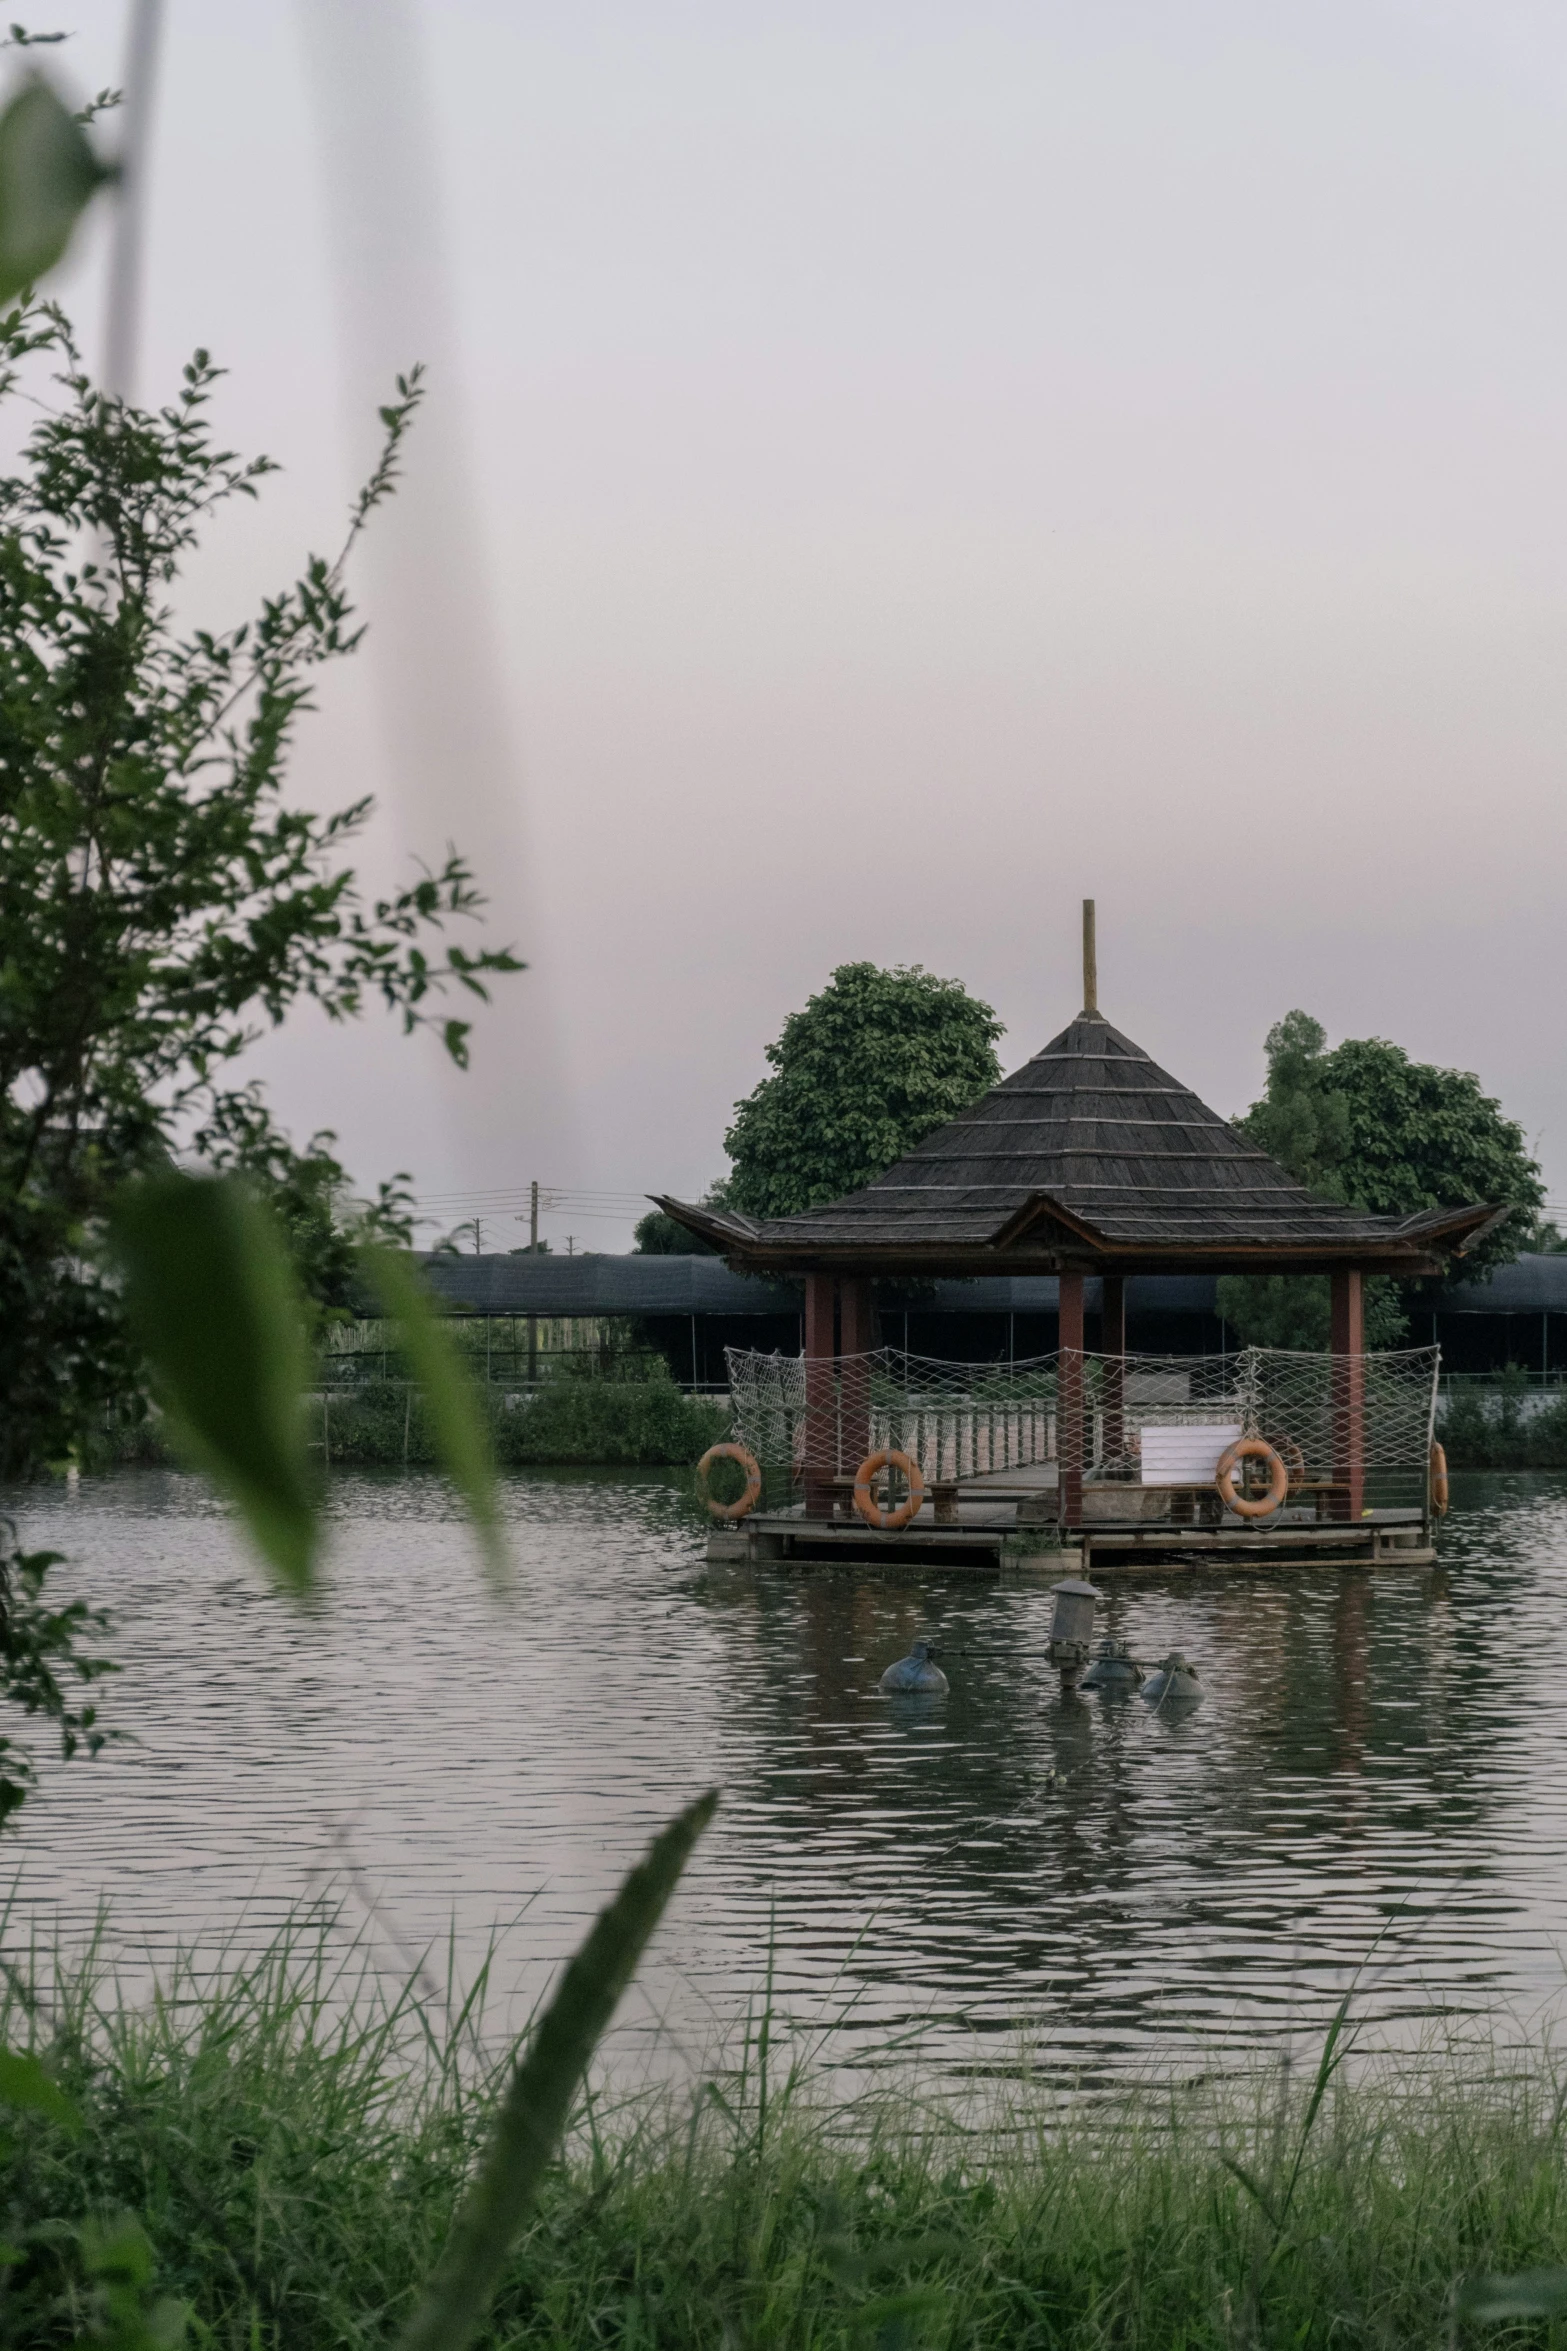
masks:
{"label": "rippled grey lake water surrounding the gazebo", "polygon": [[[1384,2038],[1539,2024],[1567,1965],[1567,1481],[1454,1479],[1435,1568],[1109,1585],[1107,1629],[1208,1695],[1062,1702],[1043,1587],[709,1568],[663,1474],[505,1488],[496,1606],[444,1488],[331,1486],[327,1596],[280,1601],[204,1488],[31,1491],[59,1592],[115,1615],[106,1716],[14,1838],[12,1942],[101,1897],[132,1977],[261,1944],[301,1904],[388,1970],[498,1933],[522,2022],[646,1836],[724,1789],[627,2001],[686,2062],[773,1968],[796,2041],[865,2069],[1099,2081],[1236,2064],[1358,1975]],[[951,1695],[876,1679],[935,1632]],[[1055,1773],[1055,1784],[1050,1784]]]}

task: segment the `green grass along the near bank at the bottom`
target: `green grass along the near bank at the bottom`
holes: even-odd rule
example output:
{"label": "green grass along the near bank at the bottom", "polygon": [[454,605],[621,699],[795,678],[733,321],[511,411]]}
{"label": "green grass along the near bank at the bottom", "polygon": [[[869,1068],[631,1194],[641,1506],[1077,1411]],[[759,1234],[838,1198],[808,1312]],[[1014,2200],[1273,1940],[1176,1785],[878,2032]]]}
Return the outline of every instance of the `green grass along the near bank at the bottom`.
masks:
{"label": "green grass along the near bank at the bottom", "polygon": [[[235,2351],[378,2344],[439,2252],[505,2052],[477,2010],[345,1991],[282,1944],[125,2005],[82,1970],[5,2029],[80,2099],[0,2154],[0,2342],[92,2316],[82,2224],[136,2212],[157,2292]],[[442,2024],[435,2017],[442,2015]],[[486,2344],[1440,2344],[1461,2271],[1567,2259],[1548,2052],[1111,2106],[1020,2088],[984,2128],[733,2074],[583,2114]],[[117,2337],[115,2337],[117,2339]],[[1546,2339],[1539,2330],[1529,2339]]]}

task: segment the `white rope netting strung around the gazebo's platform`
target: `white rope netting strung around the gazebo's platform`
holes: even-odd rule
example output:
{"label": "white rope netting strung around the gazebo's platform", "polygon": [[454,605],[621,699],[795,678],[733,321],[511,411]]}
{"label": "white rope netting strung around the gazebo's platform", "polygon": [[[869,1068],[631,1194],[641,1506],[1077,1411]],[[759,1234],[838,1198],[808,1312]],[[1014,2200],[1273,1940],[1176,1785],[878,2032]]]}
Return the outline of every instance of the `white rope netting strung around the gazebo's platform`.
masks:
{"label": "white rope netting strung around the gazebo's platform", "polygon": [[[912,1455],[928,1486],[998,1481],[1067,1455],[1088,1483],[1179,1488],[1212,1481],[1233,1439],[1262,1436],[1292,1495],[1353,1476],[1370,1507],[1424,1505],[1440,1352],[1154,1357],[1041,1354],[944,1364],[879,1347],[785,1357],[728,1347],[733,1422],[768,1474],[794,1486],[853,1479],[867,1453]],[[1182,1434],[1184,1432],[1184,1434]],[[1146,1514],[1146,1512],[1144,1512]]]}

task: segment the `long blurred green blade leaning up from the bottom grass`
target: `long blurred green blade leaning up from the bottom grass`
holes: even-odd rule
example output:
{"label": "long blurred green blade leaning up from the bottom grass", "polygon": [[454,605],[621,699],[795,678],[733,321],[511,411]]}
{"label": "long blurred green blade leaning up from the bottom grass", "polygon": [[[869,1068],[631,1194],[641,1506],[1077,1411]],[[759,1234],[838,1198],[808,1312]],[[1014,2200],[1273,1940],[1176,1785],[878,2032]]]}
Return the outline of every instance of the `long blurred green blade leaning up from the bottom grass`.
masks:
{"label": "long blurred green blade leaning up from the bottom grass", "polygon": [[430,2285],[397,2337],[397,2351],[463,2351],[479,2332],[587,2062],[717,1803],[719,1791],[709,1789],[653,1838],[648,1857],[632,1869],[608,1909],[599,1911],[587,1942],[569,1963],[512,2074],[479,2177],[458,2208]]}

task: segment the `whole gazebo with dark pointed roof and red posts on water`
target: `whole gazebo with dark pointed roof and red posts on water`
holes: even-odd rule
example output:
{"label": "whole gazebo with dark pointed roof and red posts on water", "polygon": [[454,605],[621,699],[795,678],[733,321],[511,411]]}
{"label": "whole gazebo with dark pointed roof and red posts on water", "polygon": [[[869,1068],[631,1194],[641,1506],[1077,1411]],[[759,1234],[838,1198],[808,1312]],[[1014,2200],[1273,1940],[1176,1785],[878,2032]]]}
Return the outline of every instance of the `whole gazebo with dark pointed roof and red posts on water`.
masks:
{"label": "whole gazebo with dark pointed roof and red posts on water", "polygon": [[[724,1514],[752,1554],[1431,1556],[1438,1352],[1367,1354],[1363,1281],[1442,1274],[1506,1211],[1395,1218],[1306,1192],[1099,1013],[1092,900],[1078,1018],[876,1183],[771,1220],[658,1206],[742,1272],[803,1277],[803,1357],[731,1349],[756,1474]],[[1128,1357],[1128,1274],[1189,1272],[1327,1274],[1330,1349]],[[1057,1354],[879,1347],[872,1284],[937,1274],[1055,1274]]]}

